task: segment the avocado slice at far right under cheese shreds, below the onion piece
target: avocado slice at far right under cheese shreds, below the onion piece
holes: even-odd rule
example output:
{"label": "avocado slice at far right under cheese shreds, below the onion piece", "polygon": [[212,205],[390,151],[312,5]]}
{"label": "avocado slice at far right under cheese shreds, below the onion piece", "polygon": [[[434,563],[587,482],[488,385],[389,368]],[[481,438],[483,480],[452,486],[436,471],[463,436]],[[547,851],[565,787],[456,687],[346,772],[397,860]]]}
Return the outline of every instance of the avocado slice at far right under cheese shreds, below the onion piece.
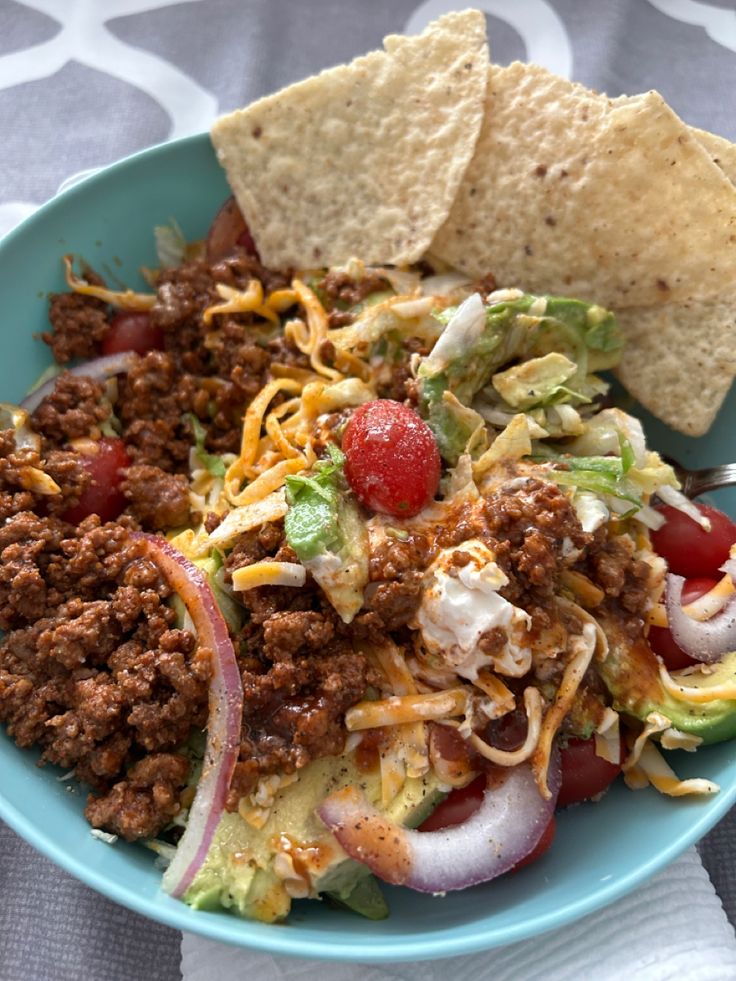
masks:
{"label": "avocado slice at far right under cheese shreds, below the onion piece", "polygon": [[[672,722],[672,728],[698,736],[705,745],[736,737],[736,701],[717,699],[693,703],[673,698],[659,677],[659,662],[643,637],[631,640],[612,622],[604,622],[609,650],[599,671],[613,696],[613,707],[645,722],[658,712]],[[736,652],[726,654],[714,665],[712,674],[673,678],[683,685],[712,687],[736,678]],[[696,681],[696,678],[698,680]]]}

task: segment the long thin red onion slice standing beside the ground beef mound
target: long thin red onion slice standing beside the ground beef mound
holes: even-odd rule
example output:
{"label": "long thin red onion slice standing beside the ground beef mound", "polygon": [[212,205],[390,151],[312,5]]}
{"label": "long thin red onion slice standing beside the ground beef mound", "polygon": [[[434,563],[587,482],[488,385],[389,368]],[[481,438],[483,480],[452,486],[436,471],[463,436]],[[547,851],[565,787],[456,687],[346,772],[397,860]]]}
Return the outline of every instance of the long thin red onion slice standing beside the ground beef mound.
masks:
{"label": "long thin red onion slice standing beside the ground beef mound", "polygon": [[189,810],[186,830],[163,877],[166,892],[182,896],[207,857],[225,807],[240,750],[243,686],[227,625],[203,573],[165,539],[143,534],[134,537],[146,543],[149,557],[189,611],[199,643],[212,651],[213,673],[202,776]]}

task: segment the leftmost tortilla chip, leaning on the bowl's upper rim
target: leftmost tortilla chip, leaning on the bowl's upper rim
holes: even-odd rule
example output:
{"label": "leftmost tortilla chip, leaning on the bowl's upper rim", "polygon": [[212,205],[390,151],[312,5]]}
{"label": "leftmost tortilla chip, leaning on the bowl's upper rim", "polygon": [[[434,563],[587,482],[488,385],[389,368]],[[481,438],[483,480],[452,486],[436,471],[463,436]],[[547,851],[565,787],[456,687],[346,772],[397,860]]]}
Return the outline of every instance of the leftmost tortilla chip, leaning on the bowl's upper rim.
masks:
{"label": "leftmost tortilla chip, leaning on the bowl's upper rim", "polygon": [[384,48],[213,126],[267,266],[413,262],[447,218],[483,118],[485,17],[447,14]]}

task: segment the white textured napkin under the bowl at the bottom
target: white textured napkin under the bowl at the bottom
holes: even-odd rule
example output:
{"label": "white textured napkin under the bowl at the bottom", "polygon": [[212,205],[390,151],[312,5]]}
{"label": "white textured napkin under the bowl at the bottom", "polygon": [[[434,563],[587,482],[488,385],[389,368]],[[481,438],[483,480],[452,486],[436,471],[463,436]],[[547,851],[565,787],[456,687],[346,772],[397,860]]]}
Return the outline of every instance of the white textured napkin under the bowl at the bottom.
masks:
{"label": "white textured napkin under the bowl at the bottom", "polygon": [[229,947],[193,934],[183,981],[733,981],[736,937],[694,848],[612,906],[509,947],[419,963],[307,961]]}

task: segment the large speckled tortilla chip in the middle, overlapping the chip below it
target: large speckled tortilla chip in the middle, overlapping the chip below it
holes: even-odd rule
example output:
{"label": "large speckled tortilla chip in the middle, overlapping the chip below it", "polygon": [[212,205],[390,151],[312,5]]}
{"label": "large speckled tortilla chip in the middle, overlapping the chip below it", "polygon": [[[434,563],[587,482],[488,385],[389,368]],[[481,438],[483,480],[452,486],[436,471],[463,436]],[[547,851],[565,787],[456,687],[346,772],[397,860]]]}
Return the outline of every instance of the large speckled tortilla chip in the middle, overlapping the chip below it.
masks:
{"label": "large speckled tortilla chip in the middle, overlapping the chip below it", "polygon": [[656,92],[611,101],[538,66],[493,66],[431,252],[615,309],[705,297],[736,269],[736,189]]}

